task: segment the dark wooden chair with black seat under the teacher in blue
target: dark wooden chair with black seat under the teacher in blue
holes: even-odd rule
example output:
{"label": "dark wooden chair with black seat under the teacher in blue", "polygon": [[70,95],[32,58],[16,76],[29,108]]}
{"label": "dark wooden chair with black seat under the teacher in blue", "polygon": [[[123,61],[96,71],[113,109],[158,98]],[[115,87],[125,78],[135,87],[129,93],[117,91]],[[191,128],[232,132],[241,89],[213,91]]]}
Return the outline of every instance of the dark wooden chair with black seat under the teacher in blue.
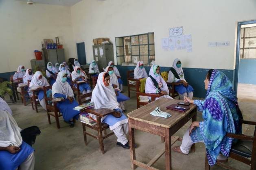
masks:
{"label": "dark wooden chair with black seat under the teacher in blue", "polygon": [[[227,137],[238,139],[238,142],[232,145],[229,157],[251,166],[251,170],[256,170],[256,122],[244,121],[243,116],[241,117],[242,117],[241,123],[255,126],[254,136],[227,133],[226,134]],[[225,163],[217,161],[216,164],[223,168],[234,170],[234,168],[228,165],[225,165]],[[205,170],[210,170],[207,155],[205,159]]]}

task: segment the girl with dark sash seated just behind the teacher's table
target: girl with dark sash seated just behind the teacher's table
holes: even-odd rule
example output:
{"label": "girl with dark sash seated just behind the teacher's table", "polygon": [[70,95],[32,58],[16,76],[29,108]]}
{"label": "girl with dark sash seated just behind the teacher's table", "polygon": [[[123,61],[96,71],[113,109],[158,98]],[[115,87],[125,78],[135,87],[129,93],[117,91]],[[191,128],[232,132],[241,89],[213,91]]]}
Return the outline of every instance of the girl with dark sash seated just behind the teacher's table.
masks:
{"label": "girl with dark sash seated just behind the teacher's table", "polygon": [[[166,82],[160,75],[159,65],[152,65],[149,71],[145,85],[145,93],[162,93],[165,98],[173,99],[169,96],[169,90]],[[156,100],[159,98],[155,98]]]}

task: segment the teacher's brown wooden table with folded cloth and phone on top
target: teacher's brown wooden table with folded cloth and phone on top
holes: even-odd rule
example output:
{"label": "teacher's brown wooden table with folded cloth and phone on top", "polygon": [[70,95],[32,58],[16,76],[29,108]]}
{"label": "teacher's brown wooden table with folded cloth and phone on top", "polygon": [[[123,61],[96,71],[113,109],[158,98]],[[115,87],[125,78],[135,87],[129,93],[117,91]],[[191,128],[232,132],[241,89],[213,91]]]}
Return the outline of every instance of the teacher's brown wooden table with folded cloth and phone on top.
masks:
{"label": "teacher's brown wooden table with folded cloth and phone on top", "polygon": [[[134,170],[136,166],[140,166],[142,168],[155,170],[156,168],[151,166],[165,152],[165,168],[166,170],[171,170],[171,145],[177,140],[181,140],[181,138],[175,137],[173,134],[183,127],[191,118],[192,121],[197,120],[197,107],[194,104],[190,104],[189,109],[186,112],[166,109],[168,105],[177,104],[179,101],[180,100],[160,98],[127,114],[129,122],[131,169]],[[163,112],[170,113],[172,116],[169,118],[152,116],[150,112],[155,110],[156,107],[159,107]],[[144,164],[136,160],[134,148],[134,129],[152,133],[165,139],[165,149],[151,161],[149,161],[148,164]],[[195,151],[195,144],[193,144],[191,151]]]}

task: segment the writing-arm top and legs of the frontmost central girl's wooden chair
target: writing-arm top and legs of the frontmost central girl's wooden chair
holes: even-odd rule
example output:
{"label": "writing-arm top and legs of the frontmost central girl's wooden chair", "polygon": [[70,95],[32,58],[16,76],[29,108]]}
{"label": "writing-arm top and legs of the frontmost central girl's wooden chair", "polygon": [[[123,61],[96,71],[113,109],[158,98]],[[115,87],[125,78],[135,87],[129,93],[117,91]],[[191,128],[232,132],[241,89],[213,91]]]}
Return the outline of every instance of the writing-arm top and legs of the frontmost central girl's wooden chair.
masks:
{"label": "writing-arm top and legs of the frontmost central girl's wooden chair", "polygon": [[[82,123],[83,126],[83,137],[84,137],[84,142],[85,142],[85,146],[87,145],[87,138],[86,135],[92,136],[93,138],[97,139],[99,144],[100,144],[100,148],[101,148],[101,153],[104,154],[104,144],[103,144],[103,139],[111,136],[114,134],[114,132],[111,132],[109,134],[107,134],[106,129],[109,128],[109,125],[107,125],[106,123],[101,123],[101,118],[111,114],[114,112],[114,110],[110,110],[107,108],[101,108],[101,109],[81,109],[80,112],[88,112],[91,114],[96,115],[96,121],[97,121],[97,125],[88,125],[86,123]],[[89,133],[88,131],[86,131],[85,127],[90,127],[91,129],[94,129],[96,131],[98,131],[98,136],[93,135],[92,133]],[[102,136],[102,131],[104,131],[104,136]]]}

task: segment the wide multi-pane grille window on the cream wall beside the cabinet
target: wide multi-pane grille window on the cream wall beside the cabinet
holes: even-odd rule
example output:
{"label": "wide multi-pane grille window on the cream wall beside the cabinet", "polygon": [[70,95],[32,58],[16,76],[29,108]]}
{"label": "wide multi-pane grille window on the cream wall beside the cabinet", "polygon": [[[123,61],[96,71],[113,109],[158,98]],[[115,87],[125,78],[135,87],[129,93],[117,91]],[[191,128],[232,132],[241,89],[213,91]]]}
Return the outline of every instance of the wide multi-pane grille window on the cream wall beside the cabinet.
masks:
{"label": "wide multi-pane grille window on the cream wall beside the cabinet", "polygon": [[116,37],[116,59],[118,65],[123,62],[137,64],[139,60],[148,65],[155,60],[154,33]]}

